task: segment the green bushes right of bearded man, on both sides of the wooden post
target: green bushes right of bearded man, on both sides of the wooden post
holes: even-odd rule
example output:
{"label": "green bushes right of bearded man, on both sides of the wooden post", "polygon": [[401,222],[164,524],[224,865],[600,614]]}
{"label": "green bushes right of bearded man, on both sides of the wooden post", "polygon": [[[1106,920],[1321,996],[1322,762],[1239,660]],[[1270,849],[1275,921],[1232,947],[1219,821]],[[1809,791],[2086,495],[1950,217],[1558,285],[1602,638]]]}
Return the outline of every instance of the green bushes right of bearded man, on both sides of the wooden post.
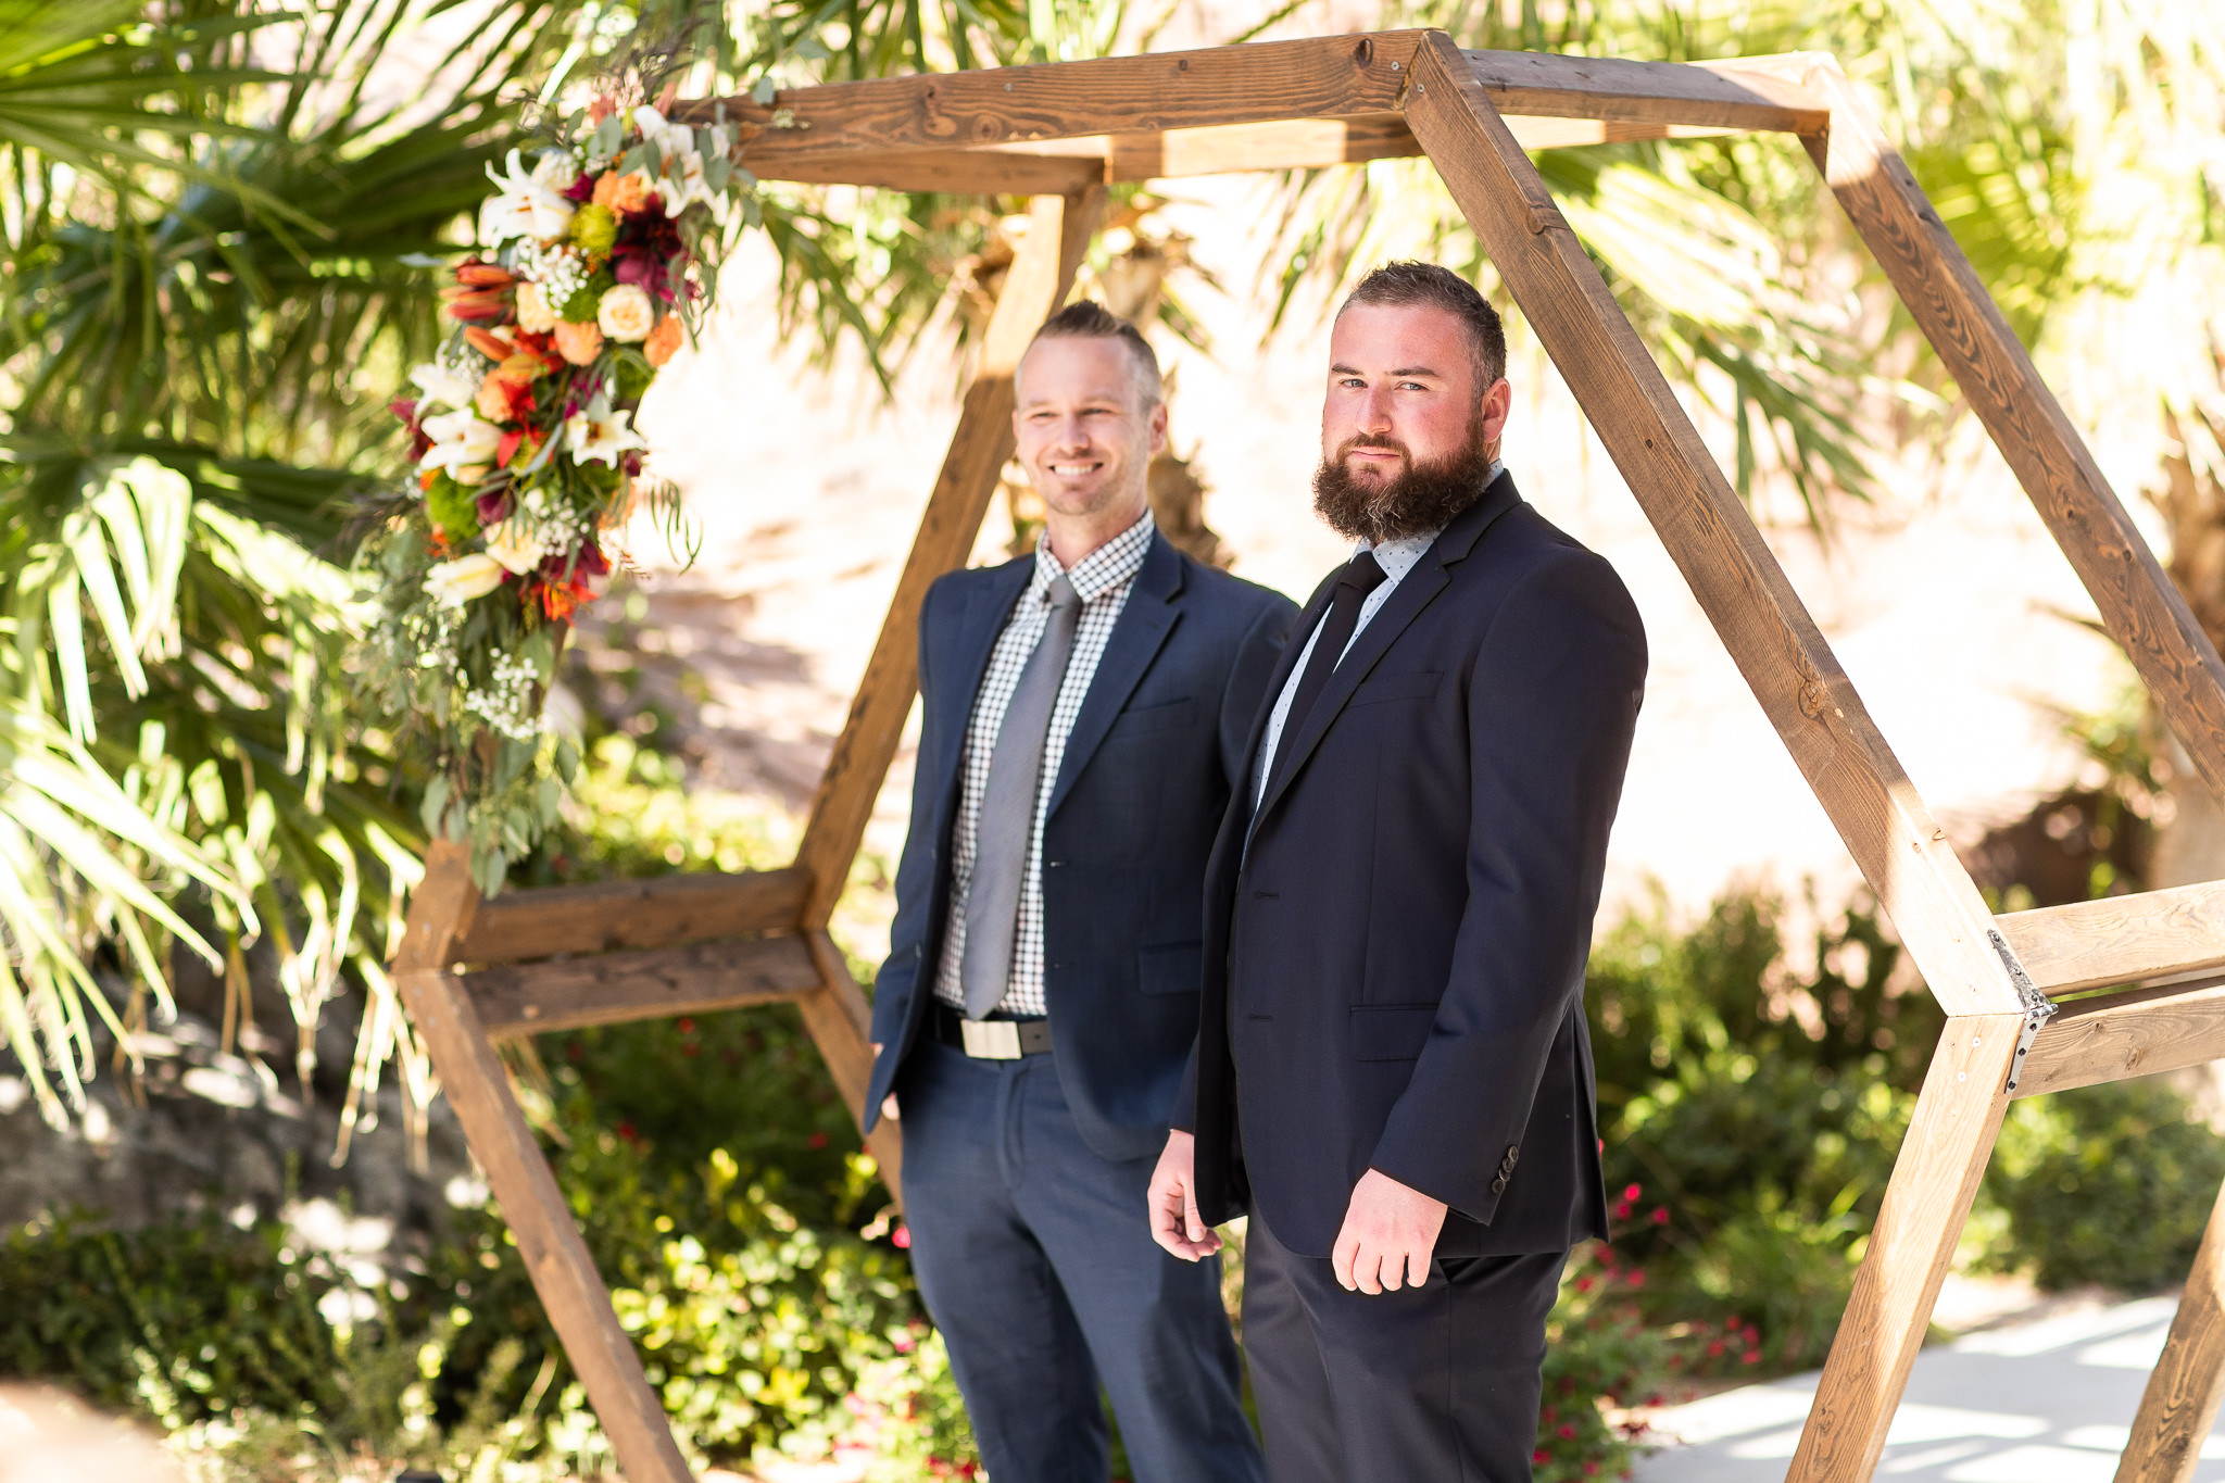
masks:
{"label": "green bushes right of bearded man, on both sides of the wooden post", "polygon": [[[1782,907],[1731,894],[1600,936],[1589,1009],[1615,1252],[1695,1374],[1820,1363],[1876,1223],[1940,1012],[1856,903],[1784,952]],[[2185,1276],[2225,1143],[2167,1083],[2020,1101],[1967,1256],[2045,1287]]]}

